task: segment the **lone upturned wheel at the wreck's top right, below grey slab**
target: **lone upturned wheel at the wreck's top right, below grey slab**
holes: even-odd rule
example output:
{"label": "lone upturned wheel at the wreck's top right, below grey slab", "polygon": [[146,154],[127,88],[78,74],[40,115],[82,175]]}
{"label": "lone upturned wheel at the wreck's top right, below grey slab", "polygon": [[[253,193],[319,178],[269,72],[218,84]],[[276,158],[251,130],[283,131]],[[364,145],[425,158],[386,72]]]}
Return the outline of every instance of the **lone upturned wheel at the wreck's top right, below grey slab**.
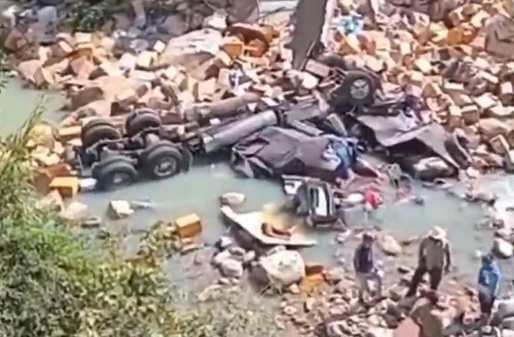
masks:
{"label": "lone upturned wheel at the wreck's top right, below grey slab", "polygon": [[377,85],[365,71],[349,71],[339,90],[351,105],[366,105],[373,102]]}

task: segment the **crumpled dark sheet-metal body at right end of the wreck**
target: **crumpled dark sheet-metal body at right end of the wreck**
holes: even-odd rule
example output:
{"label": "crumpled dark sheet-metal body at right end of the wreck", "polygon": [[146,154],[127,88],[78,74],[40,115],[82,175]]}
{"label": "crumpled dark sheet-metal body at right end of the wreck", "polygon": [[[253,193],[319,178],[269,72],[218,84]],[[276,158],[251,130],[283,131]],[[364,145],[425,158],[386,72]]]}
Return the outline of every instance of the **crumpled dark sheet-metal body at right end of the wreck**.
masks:
{"label": "crumpled dark sheet-metal body at right end of the wreck", "polygon": [[[405,94],[377,99],[361,110],[354,109],[345,120],[357,125],[353,130],[367,142],[388,149],[393,161],[398,161],[416,178],[452,176],[458,169],[469,167],[470,155],[460,139],[430,121],[415,101],[415,97]],[[424,166],[422,159],[434,156],[443,160],[443,164],[437,165],[440,170],[420,169]]]}

